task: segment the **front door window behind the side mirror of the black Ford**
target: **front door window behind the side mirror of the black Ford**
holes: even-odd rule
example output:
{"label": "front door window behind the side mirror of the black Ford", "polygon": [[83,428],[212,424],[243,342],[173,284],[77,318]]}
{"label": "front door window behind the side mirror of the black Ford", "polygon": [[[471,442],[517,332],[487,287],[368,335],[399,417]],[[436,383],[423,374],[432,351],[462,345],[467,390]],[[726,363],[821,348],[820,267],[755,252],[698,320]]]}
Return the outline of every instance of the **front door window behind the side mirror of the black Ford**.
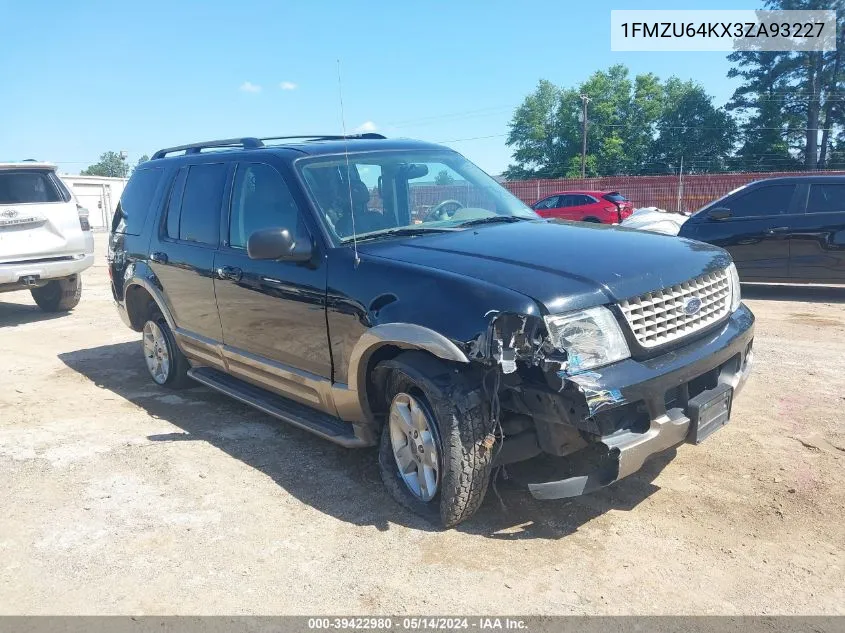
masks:
{"label": "front door window behind the side mirror of the black Ford", "polygon": [[229,246],[246,248],[255,231],[281,227],[301,235],[299,209],[281,174],[270,165],[249,163],[238,166],[232,190]]}

